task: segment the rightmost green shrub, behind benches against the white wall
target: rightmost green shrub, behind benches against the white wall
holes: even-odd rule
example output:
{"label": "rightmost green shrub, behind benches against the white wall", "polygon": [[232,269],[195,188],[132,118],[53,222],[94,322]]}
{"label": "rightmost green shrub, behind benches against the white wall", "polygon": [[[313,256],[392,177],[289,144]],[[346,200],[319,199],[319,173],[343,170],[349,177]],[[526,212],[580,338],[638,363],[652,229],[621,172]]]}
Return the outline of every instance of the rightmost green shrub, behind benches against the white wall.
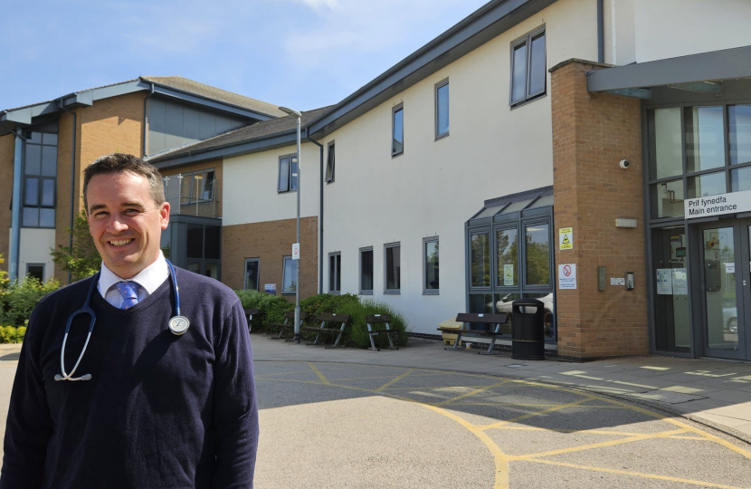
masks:
{"label": "rightmost green shrub, behind benches against the white wall", "polygon": [[[389,326],[393,330],[401,331],[397,344],[402,347],[407,344],[407,335],[405,334],[408,331],[407,321],[401,313],[396,312],[394,308],[384,302],[371,300],[344,302],[341,308],[337,310],[337,314],[349,314],[350,327],[347,328],[347,333],[344,335],[347,345],[363,349],[370,348],[365,317],[371,314],[388,314],[391,316]],[[378,329],[378,326],[374,326],[374,328]],[[379,334],[374,340],[376,340],[376,347],[388,347],[388,339],[385,334]]]}

